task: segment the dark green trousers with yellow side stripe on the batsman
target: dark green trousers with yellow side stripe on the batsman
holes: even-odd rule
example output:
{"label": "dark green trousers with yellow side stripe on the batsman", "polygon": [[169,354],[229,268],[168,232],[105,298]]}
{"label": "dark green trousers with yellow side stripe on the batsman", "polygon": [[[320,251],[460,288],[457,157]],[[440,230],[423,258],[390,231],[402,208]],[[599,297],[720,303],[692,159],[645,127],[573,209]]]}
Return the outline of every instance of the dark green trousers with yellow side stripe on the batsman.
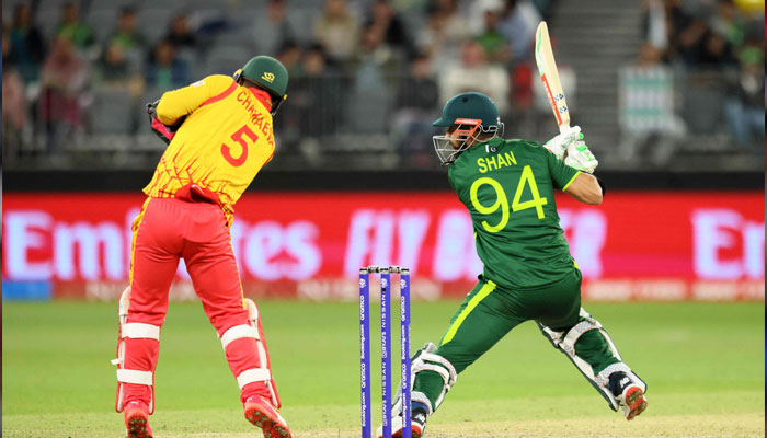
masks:
{"label": "dark green trousers with yellow side stripe on the batsman", "polygon": [[[540,289],[511,290],[480,278],[453,315],[436,354],[460,373],[520,323],[536,320],[557,332],[566,332],[583,320],[579,316],[580,310],[581,272],[577,269]],[[595,374],[619,361],[595,330],[579,338],[575,353],[592,366]],[[413,391],[426,394],[432,406],[442,390],[443,378],[435,371],[416,374]]]}

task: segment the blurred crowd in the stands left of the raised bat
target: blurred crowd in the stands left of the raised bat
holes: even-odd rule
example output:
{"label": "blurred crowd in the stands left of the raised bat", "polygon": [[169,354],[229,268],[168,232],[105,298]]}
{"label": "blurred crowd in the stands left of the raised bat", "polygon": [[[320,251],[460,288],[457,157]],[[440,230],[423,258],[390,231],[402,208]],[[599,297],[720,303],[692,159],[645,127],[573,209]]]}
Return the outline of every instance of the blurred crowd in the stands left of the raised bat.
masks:
{"label": "blurred crowd in the stands left of the raised bat", "polygon": [[[328,132],[390,128],[398,147],[428,147],[430,122],[450,95],[482,91],[511,111],[510,72],[529,70],[553,1],[108,2],[112,18],[102,2],[58,2],[53,32],[37,20],[51,15],[49,2],[20,2],[3,20],[4,143],[36,137],[44,147],[34,153],[55,154],[79,135],[136,132],[146,101],[267,54],[291,74],[276,120],[286,147],[312,157]],[[114,108],[125,102],[129,120]]]}

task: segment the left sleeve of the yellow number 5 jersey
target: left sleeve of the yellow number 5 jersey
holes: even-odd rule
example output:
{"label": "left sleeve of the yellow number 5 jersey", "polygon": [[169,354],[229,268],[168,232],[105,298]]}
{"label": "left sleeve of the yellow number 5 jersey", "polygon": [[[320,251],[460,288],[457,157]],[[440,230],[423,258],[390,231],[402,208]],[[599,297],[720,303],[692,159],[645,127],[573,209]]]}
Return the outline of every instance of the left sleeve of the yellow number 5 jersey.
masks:
{"label": "left sleeve of the yellow number 5 jersey", "polygon": [[233,79],[224,74],[213,74],[191,85],[168,91],[160,97],[157,116],[165,125],[173,125],[180,117],[193,111],[210,99],[221,95],[231,87],[237,87]]}

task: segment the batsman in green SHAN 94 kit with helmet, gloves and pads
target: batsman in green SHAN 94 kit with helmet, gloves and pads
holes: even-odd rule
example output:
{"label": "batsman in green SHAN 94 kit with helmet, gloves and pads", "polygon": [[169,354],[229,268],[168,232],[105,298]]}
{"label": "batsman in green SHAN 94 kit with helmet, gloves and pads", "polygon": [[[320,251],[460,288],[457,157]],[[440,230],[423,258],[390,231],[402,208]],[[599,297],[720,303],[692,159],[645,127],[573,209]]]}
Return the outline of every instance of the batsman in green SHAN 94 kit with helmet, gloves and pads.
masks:
{"label": "batsman in green SHAN 94 kit with helmet, gloves and pads", "polygon": [[[484,94],[454,96],[434,126],[434,148],[458,198],[469,209],[484,265],[477,286],[450,320],[439,345],[427,343],[412,361],[412,436],[421,437],[458,374],[518,324],[535,320],[627,419],[648,405],[646,384],[626,365],[602,324],[581,307],[581,270],[559,226],[554,189],[602,204],[598,162],[579,127],[546,145],[505,140],[495,104]],[[401,403],[392,430],[402,434]],[[378,437],[381,429],[378,429]]]}

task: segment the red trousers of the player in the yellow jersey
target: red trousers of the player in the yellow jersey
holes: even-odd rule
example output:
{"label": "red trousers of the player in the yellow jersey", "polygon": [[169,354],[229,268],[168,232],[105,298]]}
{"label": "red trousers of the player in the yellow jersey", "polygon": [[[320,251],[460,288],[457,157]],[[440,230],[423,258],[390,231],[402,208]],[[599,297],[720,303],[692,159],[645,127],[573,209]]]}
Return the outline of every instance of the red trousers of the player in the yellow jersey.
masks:
{"label": "red trousers of the player in the yellow jersey", "polygon": [[[232,252],[229,229],[216,204],[175,198],[150,198],[134,222],[128,323],[162,326],[168,312],[168,292],[183,257],[194,290],[205,313],[221,336],[227,330],[248,324],[240,275]],[[127,338],[125,368],[154,372],[159,342]],[[256,339],[238,338],[226,348],[234,377],[259,368]],[[266,365],[266,364],[264,364]],[[125,403],[149,404],[151,387],[125,383]],[[251,382],[241,390],[241,401],[251,395],[268,397],[264,382]]]}

